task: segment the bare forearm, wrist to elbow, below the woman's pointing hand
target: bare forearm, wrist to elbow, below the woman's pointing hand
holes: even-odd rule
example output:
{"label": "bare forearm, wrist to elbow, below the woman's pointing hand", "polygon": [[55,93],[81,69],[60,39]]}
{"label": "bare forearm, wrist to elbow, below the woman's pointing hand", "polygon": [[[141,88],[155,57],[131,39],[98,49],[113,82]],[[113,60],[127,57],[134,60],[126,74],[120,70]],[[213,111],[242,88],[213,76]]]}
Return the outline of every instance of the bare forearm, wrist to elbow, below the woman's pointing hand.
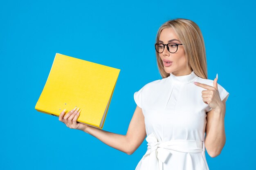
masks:
{"label": "bare forearm, wrist to elbow, below the woman's pointing hand", "polygon": [[226,110],[226,101],[219,110],[210,110],[207,113],[205,148],[211,157],[220,155],[226,142],[224,117]]}

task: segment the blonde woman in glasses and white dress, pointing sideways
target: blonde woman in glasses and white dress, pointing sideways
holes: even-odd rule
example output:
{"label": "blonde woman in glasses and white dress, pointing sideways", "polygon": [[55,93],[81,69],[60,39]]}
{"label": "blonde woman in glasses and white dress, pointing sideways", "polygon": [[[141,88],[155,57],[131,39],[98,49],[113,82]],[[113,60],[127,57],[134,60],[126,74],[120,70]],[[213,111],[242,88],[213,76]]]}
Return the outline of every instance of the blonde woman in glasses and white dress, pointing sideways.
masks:
{"label": "blonde woman in glasses and white dress, pointing sideways", "polygon": [[217,83],[218,75],[207,79],[204,40],[195,22],[179,18],[164,23],[155,50],[162,79],[135,92],[137,107],[126,135],[77,123],[76,108],[63,111],[59,120],[128,155],[147,135],[148,150],[136,170],[209,170],[205,148],[216,157],[225,145],[229,93]]}

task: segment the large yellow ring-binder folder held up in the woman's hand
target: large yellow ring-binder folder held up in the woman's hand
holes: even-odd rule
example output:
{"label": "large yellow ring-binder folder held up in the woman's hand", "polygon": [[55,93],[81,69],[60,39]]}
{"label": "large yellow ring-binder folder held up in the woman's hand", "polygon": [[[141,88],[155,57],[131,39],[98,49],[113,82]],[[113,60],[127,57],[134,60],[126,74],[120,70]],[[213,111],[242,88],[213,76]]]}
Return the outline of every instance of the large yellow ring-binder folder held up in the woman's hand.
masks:
{"label": "large yellow ring-binder folder held up in the woman's hand", "polygon": [[78,122],[102,129],[120,69],[56,53],[52,68],[36,103],[42,113],[59,116],[75,106]]}

